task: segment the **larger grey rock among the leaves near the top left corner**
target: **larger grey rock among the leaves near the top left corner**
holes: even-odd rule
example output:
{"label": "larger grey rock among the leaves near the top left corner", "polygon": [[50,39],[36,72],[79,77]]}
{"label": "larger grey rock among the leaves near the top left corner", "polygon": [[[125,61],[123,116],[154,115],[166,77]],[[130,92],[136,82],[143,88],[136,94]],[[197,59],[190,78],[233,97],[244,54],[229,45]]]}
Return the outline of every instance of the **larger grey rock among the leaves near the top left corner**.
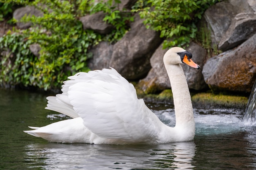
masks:
{"label": "larger grey rock among the leaves near the top left corner", "polygon": [[19,22],[20,19],[24,15],[43,16],[43,12],[38,10],[38,9],[36,9],[35,7],[31,7],[31,6],[26,6],[26,7],[21,7],[21,8],[16,9],[13,12],[13,18],[15,18],[18,21],[16,23],[16,25],[20,29],[27,29],[27,28],[29,28],[31,26],[30,22],[27,22],[27,23]]}

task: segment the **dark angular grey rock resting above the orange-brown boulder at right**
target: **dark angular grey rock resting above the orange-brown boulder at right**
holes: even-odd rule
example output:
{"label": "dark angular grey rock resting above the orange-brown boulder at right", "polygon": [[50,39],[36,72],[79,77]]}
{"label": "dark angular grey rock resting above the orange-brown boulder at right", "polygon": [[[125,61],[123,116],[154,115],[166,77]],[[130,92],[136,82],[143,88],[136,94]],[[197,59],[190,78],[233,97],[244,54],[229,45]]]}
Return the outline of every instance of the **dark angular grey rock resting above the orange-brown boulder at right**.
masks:
{"label": "dark angular grey rock resting above the orange-brown boulder at right", "polygon": [[219,49],[232,49],[256,33],[256,13],[239,13],[219,43]]}

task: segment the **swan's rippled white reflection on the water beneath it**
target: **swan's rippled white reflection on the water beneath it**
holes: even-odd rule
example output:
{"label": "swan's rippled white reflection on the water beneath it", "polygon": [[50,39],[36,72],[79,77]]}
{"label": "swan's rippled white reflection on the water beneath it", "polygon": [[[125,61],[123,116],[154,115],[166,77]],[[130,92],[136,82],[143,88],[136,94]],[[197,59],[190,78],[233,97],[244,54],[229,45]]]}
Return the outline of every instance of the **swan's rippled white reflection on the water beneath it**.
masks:
{"label": "swan's rippled white reflection on the water beneath it", "polygon": [[158,145],[30,144],[29,168],[49,169],[192,169],[193,141]]}

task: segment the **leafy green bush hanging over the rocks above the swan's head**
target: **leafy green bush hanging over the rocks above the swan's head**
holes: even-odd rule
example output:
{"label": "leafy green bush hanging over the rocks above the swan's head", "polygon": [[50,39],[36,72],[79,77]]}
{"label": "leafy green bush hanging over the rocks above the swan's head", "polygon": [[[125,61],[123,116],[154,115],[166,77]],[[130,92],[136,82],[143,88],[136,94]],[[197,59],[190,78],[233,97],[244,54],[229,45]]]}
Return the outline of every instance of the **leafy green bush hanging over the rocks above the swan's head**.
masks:
{"label": "leafy green bush hanging over the rocks above the swan's head", "polygon": [[144,24],[165,38],[163,47],[184,46],[195,38],[196,23],[204,11],[217,0],[138,0],[133,11],[139,11]]}

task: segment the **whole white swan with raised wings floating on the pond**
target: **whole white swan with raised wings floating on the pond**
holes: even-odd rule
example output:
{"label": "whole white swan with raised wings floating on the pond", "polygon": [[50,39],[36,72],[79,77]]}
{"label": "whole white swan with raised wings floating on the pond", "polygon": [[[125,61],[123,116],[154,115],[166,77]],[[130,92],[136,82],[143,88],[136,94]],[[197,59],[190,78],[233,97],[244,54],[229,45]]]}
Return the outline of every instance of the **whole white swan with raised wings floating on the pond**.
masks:
{"label": "whole white swan with raised wings floating on the pond", "polygon": [[134,86],[113,68],[70,76],[61,94],[47,97],[46,109],[73,119],[24,131],[52,142],[91,144],[156,144],[191,141],[195,121],[188,84],[180,64],[200,68],[191,53],[169,49],[164,65],[170,78],[175,106],[175,127],[169,127],[137,99]]}

